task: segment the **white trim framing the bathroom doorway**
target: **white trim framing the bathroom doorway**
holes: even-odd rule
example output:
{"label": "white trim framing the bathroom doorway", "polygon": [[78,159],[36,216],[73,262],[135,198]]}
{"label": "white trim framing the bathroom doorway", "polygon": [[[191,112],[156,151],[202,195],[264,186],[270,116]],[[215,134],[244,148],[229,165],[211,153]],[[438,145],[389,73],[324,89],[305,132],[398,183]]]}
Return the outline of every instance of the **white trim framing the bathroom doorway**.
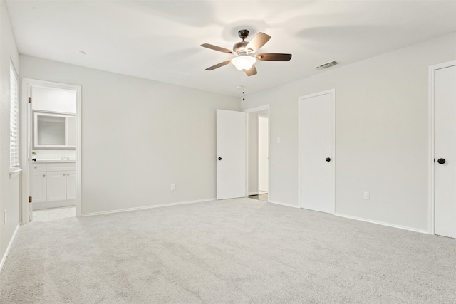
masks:
{"label": "white trim framing the bathroom doorway", "polygon": [[[22,78],[21,88],[21,162],[22,162],[22,183],[21,183],[21,222],[29,222],[28,211],[28,189],[30,182],[30,168],[28,162],[28,132],[31,132],[31,125],[28,120],[28,87],[30,85],[47,88],[58,88],[74,90],[76,92],[76,216],[81,216],[81,85],[70,85],[67,83],[56,83],[46,80]],[[31,135],[30,135],[31,136]]]}

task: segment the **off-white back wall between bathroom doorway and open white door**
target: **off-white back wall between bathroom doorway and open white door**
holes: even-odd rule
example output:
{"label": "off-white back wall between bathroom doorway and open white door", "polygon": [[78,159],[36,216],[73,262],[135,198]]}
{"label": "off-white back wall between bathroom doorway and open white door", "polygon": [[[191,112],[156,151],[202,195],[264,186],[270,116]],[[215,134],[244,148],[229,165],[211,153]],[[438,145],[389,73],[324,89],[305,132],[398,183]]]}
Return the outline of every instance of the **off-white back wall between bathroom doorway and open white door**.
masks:
{"label": "off-white back wall between bathroom doorway and open white door", "polygon": [[215,197],[215,110],[239,98],[30,56],[21,75],[82,86],[82,214]]}

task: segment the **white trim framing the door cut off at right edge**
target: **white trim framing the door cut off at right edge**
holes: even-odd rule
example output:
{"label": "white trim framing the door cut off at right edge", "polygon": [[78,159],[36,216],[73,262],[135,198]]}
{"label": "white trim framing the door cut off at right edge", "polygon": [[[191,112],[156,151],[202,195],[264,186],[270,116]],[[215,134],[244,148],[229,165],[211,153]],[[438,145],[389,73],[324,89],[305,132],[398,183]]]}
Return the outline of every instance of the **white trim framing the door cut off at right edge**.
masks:
{"label": "white trim framing the door cut off at right edge", "polygon": [[429,67],[429,98],[428,98],[428,153],[429,158],[427,159],[427,172],[428,176],[428,186],[427,186],[427,232],[429,234],[435,234],[435,70],[440,70],[441,68],[449,68],[452,65],[456,65],[455,61],[447,61],[445,63],[439,63],[436,65],[430,65]]}

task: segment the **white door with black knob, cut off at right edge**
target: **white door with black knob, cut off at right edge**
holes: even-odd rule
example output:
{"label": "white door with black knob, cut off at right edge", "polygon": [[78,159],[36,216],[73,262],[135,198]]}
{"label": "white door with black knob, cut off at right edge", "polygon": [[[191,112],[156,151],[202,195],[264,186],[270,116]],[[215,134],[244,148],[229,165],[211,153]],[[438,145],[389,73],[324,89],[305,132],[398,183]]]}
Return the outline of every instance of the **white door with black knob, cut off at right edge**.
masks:
{"label": "white door with black knob, cut off at right edge", "polygon": [[434,79],[435,234],[456,238],[456,65]]}

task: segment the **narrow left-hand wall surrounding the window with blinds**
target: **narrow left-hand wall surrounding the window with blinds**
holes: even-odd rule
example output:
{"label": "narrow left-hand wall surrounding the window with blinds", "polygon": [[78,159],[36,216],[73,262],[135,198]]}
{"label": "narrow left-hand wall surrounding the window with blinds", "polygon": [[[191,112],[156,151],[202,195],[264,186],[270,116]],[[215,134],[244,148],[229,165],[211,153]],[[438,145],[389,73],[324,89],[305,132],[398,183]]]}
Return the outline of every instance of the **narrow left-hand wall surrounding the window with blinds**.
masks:
{"label": "narrow left-hand wall surrounding the window with blinds", "polygon": [[[21,176],[9,176],[9,65],[19,73],[19,53],[11,31],[8,11],[0,0],[0,261],[3,261],[14,231],[19,224],[19,185]],[[4,224],[4,211],[8,221]]]}

